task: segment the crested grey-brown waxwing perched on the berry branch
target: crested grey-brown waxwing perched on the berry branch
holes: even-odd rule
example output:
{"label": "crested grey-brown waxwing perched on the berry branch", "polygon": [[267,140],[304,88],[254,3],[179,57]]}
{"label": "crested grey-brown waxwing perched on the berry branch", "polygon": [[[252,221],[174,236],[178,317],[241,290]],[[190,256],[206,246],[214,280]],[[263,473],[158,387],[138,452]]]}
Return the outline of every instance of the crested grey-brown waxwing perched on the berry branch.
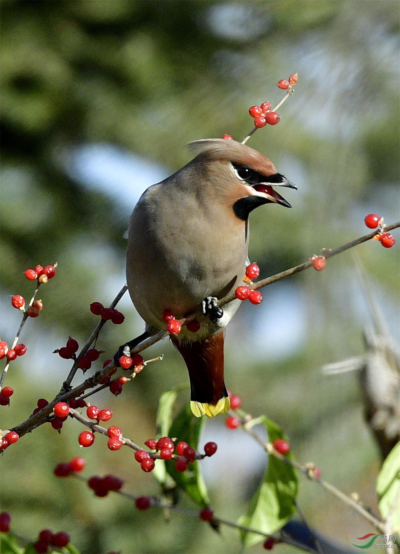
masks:
{"label": "crested grey-brown waxwing perched on the berry branch", "polygon": [[146,322],[142,335],[122,345],[128,353],[165,329],[163,313],[176,319],[201,310],[200,329],[171,335],[190,379],[196,417],[230,408],[224,382],[225,327],[241,300],[217,300],[243,284],[248,260],[250,212],[262,204],[291,207],[274,187],[297,188],[271,160],[227,139],[189,144],[195,157],[142,194],[128,225],[126,276],[129,295]]}

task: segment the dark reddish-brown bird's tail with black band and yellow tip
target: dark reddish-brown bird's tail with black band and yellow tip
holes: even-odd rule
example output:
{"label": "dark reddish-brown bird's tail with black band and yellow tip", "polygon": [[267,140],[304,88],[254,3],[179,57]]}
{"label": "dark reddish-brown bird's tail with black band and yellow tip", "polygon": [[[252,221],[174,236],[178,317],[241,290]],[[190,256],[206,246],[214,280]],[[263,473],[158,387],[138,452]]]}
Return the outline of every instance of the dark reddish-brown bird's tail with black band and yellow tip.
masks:
{"label": "dark reddish-brown bird's tail with black band and yellow tip", "polygon": [[224,331],[201,342],[179,343],[190,378],[190,408],[196,417],[214,417],[230,408],[224,383]]}

